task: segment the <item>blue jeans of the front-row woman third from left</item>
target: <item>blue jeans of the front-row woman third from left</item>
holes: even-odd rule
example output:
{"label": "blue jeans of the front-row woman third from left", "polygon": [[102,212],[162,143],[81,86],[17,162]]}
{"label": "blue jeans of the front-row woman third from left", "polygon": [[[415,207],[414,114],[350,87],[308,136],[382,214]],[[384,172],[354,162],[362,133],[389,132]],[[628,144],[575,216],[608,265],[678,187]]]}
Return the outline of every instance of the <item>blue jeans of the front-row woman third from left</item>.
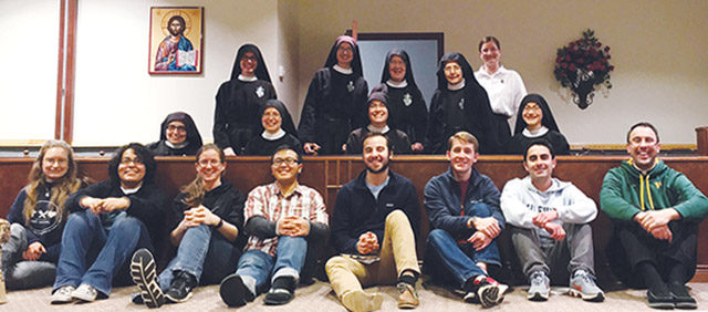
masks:
{"label": "blue jeans of the front-row woman third from left", "polygon": [[[208,243],[207,243],[208,242]],[[179,242],[177,256],[159,274],[159,284],[167,291],[175,271],[185,271],[197,281],[219,282],[236,267],[241,251],[211,227],[200,225],[189,228]],[[204,279],[201,279],[204,275]]]}

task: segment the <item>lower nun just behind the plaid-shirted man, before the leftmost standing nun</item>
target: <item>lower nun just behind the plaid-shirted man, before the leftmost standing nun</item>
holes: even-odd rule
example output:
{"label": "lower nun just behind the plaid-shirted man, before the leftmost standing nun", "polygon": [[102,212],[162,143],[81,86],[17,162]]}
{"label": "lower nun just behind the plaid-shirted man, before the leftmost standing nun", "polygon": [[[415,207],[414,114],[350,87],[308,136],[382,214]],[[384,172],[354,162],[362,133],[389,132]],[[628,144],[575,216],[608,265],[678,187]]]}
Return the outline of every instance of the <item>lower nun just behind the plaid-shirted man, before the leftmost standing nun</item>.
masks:
{"label": "lower nun just behind the plaid-shirted man, before the leftmost standing nun", "polygon": [[282,128],[283,119],[291,119],[285,104],[280,100],[268,100],[259,114],[263,133],[252,137],[246,145],[243,155],[270,156],[282,146],[288,145],[303,154],[302,144],[293,135]]}

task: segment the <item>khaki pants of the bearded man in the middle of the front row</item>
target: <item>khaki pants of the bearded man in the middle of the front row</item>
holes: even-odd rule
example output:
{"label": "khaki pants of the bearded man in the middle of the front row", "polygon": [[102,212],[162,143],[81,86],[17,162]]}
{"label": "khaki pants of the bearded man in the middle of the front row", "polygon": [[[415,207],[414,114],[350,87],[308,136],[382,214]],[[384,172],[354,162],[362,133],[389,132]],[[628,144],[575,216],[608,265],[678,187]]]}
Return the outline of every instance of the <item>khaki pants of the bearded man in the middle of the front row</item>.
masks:
{"label": "khaki pants of the bearded man in the middle of the front row", "polygon": [[420,273],[416,256],[416,241],[408,217],[394,210],[386,217],[381,260],[363,264],[346,254],[331,258],[325,267],[330,283],[341,299],[350,291],[361,291],[362,285],[394,284],[406,270]]}

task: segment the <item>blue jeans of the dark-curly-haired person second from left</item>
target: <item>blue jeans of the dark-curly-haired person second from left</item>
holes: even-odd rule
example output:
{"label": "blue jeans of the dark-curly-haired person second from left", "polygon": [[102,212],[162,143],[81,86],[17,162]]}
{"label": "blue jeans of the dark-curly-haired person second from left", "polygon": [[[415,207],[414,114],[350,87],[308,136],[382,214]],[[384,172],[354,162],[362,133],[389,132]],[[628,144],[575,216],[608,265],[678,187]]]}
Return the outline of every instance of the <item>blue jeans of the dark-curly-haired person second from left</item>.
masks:
{"label": "blue jeans of the dark-curly-haired person second from left", "polygon": [[54,290],[85,283],[107,297],[113,277],[138,248],[153,250],[147,228],[137,218],[121,214],[106,230],[91,210],[73,212],[62,237]]}

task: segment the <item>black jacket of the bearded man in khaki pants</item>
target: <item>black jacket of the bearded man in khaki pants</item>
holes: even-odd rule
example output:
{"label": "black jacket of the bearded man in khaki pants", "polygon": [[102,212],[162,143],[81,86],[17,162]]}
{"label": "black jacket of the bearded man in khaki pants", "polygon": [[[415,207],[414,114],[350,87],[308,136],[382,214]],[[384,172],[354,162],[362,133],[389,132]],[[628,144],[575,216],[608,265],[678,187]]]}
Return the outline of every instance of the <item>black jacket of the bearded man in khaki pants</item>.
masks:
{"label": "black jacket of the bearded man in khaki pants", "polygon": [[362,233],[376,233],[383,245],[386,217],[396,209],[406,214],[410,227],[418,232],[420,209],[413,183],[388,170],[388,185],[378,194],[378,200],[366,187],[366,170],[345,184],[336,195],[331,220],[332,245],[337,252],[356,254],[356,242]]}

